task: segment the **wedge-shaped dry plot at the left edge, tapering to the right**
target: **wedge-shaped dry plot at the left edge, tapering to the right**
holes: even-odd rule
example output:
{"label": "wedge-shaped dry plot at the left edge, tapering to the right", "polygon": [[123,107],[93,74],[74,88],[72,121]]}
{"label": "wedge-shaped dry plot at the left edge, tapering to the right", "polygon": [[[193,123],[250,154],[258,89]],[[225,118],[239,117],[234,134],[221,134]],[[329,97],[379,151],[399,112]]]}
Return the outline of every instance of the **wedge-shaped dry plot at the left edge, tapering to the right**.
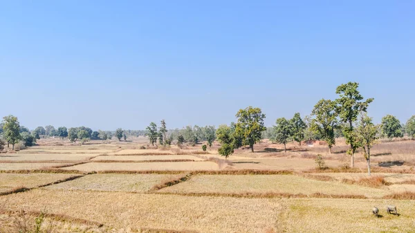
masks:
{"label": "wedge-shaped dry plot at the left edge, tapering to the right", "polygon": [[73,174],[0,174],[0,189],[5,192],[17,187],[38,187],[73,176]]}

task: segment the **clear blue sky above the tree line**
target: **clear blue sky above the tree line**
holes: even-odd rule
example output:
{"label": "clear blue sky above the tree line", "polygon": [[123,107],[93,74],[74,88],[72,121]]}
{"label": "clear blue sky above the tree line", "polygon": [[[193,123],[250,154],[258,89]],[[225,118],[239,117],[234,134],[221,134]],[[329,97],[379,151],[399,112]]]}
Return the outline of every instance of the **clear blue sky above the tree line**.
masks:
{"label": "clear blue sky above the tree line", "polygon": [[0,0],[0,115],[34,129],[266,125],[359,82],[415,114],[415,1]]}

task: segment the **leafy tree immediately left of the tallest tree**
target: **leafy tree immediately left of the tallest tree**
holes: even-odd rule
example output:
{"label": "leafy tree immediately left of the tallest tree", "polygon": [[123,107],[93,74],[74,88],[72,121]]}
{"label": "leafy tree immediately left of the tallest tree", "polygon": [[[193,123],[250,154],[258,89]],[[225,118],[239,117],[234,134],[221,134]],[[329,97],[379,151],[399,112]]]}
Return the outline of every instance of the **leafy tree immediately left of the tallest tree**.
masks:
{"label": "leafy tree immediately left of the tallest tree", "polygon": [[314,119],[311,120],[311,129],[320,134],[322,139],[329,145],[329,151],[335,145],[335,129],[338,128],[338,114],[335,111],[335,102],[331,100],[320,100],[315,104],[311,112]]}

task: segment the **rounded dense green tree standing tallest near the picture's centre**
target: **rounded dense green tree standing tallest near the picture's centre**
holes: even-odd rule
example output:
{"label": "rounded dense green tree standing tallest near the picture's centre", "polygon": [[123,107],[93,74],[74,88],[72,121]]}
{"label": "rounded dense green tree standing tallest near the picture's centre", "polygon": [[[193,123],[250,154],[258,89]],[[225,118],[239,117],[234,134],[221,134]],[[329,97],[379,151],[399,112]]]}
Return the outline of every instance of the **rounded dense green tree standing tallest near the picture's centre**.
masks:
{"label": "rounded dense green tree standing tallest near the picture's centre", "polygon": [[248,106],[246,109],[239,109],[237,115],[235,133],[242,140],[242,145],[249,145],[254,153],[254,145],[261,140],[264,127],[265,114],[259,108]]}

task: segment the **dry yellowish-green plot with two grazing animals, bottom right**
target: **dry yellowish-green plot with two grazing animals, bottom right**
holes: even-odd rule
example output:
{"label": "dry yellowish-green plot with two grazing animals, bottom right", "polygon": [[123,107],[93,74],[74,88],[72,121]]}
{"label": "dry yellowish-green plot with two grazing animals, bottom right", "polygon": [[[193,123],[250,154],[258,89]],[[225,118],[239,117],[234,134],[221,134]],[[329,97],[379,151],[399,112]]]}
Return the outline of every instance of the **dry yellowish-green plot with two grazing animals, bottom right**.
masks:
{"label": "dry yellowish-green plot with two grazing animals, bottom right", "polygon": [[[414,232],[415,201],[290,199],[283,225],[286,232]],[[386,213],[386,205],[396,205],[400,216]],[[382,216],[376,218],[376,206]]]}

